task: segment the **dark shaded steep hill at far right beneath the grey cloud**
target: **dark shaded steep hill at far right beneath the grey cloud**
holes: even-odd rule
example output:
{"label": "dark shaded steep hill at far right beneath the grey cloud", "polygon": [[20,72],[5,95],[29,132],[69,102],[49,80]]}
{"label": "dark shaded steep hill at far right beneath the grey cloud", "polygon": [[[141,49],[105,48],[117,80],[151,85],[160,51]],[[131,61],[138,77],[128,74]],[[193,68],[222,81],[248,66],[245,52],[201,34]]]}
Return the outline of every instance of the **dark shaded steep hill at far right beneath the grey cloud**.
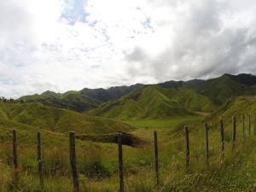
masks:
{"label": "dark shaded steep hill at far right beneath the grey cloud", "polygon": [[252,86],[251,84],[242,84],[244,83],[244,81],[241,80],[241,77],[242,76],[239,75],[230,76],[229,74],[224,74],[219,78],[209,79],[205,81],[204,83],[197,86],[194,90],[203,96],[209,97],[213,102],[216,102],[218,105],[226,102],[232,96],[255,95],[255,86]]}

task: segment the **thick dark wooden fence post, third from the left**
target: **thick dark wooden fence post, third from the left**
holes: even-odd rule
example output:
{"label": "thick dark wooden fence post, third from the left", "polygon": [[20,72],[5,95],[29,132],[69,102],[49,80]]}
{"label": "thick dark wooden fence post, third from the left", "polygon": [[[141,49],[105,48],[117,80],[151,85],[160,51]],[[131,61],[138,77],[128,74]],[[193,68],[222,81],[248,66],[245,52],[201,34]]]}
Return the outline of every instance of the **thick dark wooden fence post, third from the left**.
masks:
{"label": "thick dark wooden fence post, third from the left", "polygon": [[73,189],[79,192],[79,176],[76,166],[75,132],[69,132],[70,165],[73,174]]}

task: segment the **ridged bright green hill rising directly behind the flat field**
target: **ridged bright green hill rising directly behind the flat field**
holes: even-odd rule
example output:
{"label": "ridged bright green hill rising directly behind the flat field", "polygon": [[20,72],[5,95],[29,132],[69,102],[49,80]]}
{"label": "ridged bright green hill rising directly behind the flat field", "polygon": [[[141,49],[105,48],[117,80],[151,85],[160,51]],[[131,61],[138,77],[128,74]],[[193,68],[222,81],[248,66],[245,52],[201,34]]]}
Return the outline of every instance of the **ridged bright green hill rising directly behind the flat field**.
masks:
{"label": "ridged bright green hill rising directly behind the flat field", "polygon": [[192,111],[212,111],[215,108],[214,103],[207,97],[192,90],[150,85],[104,103],[90,113],[116,119],[167,119],[191,115]]}

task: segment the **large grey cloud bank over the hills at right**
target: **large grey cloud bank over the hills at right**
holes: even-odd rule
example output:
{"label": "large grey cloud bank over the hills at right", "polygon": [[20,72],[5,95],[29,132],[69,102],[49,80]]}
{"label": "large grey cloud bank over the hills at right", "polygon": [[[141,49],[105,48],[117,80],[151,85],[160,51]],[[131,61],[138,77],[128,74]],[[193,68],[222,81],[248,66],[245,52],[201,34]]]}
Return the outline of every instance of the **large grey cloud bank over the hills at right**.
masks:
{"label": "large grey cloud bank over the hills at right", "polygon": [[[146,69],[145,77],[153,75],[157,81],[211,78],[223,73],[256,74],[255,23],[241,25],[241,20],[247,23],[242,14],[245,8],[212,0],[179,2],[186,9],[177,11],[176,22],[169,23],[172,42],[163,44],[165,49],[150,59],[146,48],[135,47],[125,55],[131,77],[142,75],[137,73],[139,68]],[[177,5],[168,4],[173,10]]]}

